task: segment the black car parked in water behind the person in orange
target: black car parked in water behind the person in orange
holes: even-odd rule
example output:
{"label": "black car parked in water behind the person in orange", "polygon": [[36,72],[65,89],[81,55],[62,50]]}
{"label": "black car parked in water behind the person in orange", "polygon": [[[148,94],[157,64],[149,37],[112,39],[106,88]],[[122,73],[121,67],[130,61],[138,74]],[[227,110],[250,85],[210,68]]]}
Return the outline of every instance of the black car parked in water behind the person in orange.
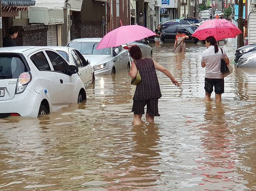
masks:
{"label": "black car parked in water behind the person in orange", "polygon": [[[202,43],[204,43],[204,41],[200,41],[197,38],[192,37],[192,34],[195,32],[195,30],[197,28],[198,28],[198,26],[194,26],[194,25],[172,25],[172,26],[169,26],[162,31],[161,42],[162,43],[174,43],[175,37],[177,35],[177,31],[181,31],[183,34],[186,34],[189,36],[189,38],[188,38],[188,40],[186,40],[186,42],[202,44]],[[154,36],[149,37],[149,41],[154,41]]]}

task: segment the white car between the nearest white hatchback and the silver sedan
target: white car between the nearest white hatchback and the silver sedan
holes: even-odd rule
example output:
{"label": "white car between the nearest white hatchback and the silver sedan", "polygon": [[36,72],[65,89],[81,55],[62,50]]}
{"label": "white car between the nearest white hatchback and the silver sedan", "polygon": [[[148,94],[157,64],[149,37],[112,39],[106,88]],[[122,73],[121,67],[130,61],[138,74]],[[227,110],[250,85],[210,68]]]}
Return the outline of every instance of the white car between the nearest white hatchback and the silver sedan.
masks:
{"label": "white car between the nearest white hatchback and the silver sedan", "polygon": [[67,46],[49,46],[49,48],[52,48],[60,53],[70,65],[75,65],[78,67],[78,74],[81,77],[85,87],[88,87],[95,82],[94,71],[93,67],[89,63],[90,61],[84,59],[78,50]]}

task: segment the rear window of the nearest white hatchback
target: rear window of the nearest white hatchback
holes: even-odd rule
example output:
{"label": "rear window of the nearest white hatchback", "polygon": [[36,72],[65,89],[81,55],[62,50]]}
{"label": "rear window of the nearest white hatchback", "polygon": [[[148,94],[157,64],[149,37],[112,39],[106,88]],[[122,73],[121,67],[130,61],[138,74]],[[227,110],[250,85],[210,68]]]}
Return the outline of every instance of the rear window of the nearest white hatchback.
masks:
{"label": "rear window of the nearest white hatchback", "polygon": [[20,58],[0,56],[0,79],[16,79],[23,72],[28,69]]}

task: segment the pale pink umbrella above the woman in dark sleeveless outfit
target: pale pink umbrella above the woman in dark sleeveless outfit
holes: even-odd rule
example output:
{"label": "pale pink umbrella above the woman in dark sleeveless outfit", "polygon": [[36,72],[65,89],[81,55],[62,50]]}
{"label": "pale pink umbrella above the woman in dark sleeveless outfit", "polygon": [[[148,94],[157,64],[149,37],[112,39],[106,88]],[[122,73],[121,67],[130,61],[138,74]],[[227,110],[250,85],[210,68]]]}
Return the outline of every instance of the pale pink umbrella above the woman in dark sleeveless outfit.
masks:
{"label": "pale pink umbrella above the woman in dark sleeveless outfit", "polygon": [[117,47],[132,41],[141,40],[143,38],[154,35],[156,35],[154,32],[143,26],[123,26],[121,22],[121,27],[110,31],[102,38],[97,46],[97,50],[102,48]]}

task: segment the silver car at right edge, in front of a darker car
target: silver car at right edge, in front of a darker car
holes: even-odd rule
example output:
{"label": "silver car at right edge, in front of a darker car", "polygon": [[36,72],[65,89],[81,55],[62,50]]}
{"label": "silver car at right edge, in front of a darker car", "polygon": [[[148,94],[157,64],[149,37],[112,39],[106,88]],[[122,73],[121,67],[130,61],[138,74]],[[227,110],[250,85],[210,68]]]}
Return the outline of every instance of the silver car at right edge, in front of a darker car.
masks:
{"label": "silver car at right edge, in front of a darker car", "polygon": [[256,51],[242,55],[236,66],[241,68],[256,68]]}

